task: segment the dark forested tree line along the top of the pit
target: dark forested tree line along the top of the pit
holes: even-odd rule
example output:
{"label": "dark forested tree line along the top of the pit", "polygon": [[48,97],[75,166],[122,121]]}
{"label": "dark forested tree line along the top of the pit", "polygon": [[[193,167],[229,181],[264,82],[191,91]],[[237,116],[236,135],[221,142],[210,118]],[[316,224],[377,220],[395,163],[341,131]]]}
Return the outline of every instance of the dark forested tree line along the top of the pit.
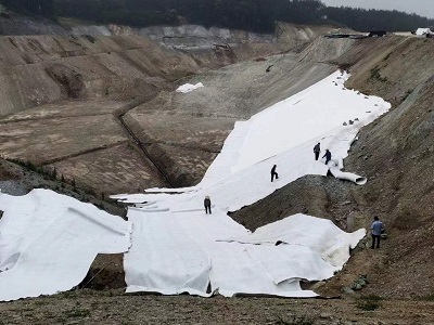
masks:
{"label": "dark forested tree line along the top of the pit", "polygon": [[0,0],[7,9],[55,18],[69,16],[98,24],[133,27],[197,24],[272,32],[275,22],[334,23],[359,31],[412,30],[434,25],[398,11],[331,8],[320,0]]}

